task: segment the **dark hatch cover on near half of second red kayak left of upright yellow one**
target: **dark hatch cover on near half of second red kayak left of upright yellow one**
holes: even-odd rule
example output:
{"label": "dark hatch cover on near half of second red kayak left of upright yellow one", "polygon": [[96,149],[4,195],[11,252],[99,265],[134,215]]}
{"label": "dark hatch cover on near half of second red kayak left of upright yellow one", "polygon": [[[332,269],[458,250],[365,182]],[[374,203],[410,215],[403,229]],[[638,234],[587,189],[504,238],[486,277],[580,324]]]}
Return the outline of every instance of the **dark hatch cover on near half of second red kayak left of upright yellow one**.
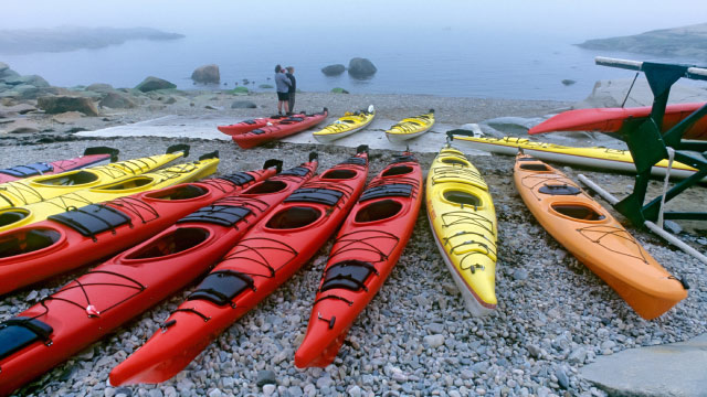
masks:
{"label": "dark hatch cover on near half of second red kayak left of upright yellow one", "polygon": [[218,305],[226,305],[249,288],[255,290],[250,276],[240,271],[218,270],[208,275],[187,300],[202,299]]}

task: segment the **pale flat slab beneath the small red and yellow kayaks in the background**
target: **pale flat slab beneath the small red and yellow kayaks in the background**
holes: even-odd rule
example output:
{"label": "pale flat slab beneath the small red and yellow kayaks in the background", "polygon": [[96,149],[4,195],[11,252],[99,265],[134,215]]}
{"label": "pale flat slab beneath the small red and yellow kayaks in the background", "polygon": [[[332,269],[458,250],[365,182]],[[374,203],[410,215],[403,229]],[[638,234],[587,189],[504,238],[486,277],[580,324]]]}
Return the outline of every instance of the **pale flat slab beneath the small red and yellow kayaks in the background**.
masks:
{"label": "pale flat slab beneath the small red and yellow kayaks in the background", "polygon": [[[333,122],[336,118],[329,118],[326,124]],[[217,130],[217,126],[238,122],[233,118],[223,117],[182,117],[182,116],[165,116],[152,120],[135,122],[126,126],[117,126],[99,129],[96,131],[77,132],[81,137],[167,137],[167,138],[199,138],[229,141],[231,138]],[[407,142],[392,143],[388,141],[383,133],[395,120],[374,119],[371,125],[359,132],[336,140],[331,143],[319,143],[312,136],[314,129],[295,133],[282,139],[284,142],[291,143],[315,143],[315,144],[336,144],[347,148],[356,148],[359,144],[368,144],[371,149],[410,150],[418,153],[436,153],[446,142],[446,131],[458,128],[458,126],[436,124],[431,131],[425,135],[411,139]],[[326,126],[323,122],[320,126]],[[473,155],[490,155],[488,152],[474,151]]]}

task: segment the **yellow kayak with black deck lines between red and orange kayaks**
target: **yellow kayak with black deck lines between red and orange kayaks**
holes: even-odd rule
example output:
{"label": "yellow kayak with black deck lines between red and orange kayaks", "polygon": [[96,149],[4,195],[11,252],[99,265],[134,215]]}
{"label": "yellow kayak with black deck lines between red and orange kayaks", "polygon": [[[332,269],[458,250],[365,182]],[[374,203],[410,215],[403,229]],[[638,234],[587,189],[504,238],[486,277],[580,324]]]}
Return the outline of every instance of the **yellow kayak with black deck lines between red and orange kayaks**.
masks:
{"label": "yellow kayak with black deck lines between red and orange kayaks", "polygon": [[444,262],[473,315],[496,309],[496,211],[464,154],[446,146],[428,173],[428,218]]}

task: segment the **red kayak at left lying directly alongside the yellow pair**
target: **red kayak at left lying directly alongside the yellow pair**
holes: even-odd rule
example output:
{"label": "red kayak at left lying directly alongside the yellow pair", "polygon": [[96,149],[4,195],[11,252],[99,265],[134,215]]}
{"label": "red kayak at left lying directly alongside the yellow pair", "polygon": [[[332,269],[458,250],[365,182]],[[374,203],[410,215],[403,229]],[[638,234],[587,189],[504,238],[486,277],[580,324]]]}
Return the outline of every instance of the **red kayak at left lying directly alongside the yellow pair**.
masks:
{"label": "red kayak at left lying directly alongside the yellow pair", "polygon": [[282,161],[268,160],[263,170],[86,205],[0,233],[0,294],[131,247],[182,216],[274,175],[281,167]]}

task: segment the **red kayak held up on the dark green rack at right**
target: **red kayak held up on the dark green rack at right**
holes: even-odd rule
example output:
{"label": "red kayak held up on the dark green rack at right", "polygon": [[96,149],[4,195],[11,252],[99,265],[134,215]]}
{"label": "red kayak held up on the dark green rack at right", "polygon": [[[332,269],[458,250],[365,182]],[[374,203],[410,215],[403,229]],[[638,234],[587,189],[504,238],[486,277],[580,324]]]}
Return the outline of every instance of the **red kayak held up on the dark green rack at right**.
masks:
{"label": "red kayak held up on the dark green rack at right", "polygon": [[[666,106],[662,130],[669,130],[703,106],[705,106],[705,103]],[[650,115],[650,106],[636,108],[576,109],[561,112],[540,122],[530,128],[528,133],[535,135],[552,131],[618,132],[623,127],[624,121],[646,118]],[[685,131],[683,138],[707,140],[707,117],[697,120],[697,122]]]}

